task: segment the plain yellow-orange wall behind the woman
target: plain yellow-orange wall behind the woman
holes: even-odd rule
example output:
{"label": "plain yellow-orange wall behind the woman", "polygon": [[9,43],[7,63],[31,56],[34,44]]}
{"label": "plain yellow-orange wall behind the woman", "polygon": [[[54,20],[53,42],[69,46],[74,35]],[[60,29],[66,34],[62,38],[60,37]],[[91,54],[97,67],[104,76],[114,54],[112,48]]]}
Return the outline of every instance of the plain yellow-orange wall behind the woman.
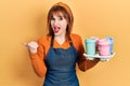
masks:
{"label": "plain yellow-orange wall behind the woman", "polygon": [[0,86],[41,86],[24,42],[46,35],[46,17],[55,2],[67,3],[75,16],[73,32],[115,39],[108,62],[77,70],[80,86],[130,86],[130,0],[0,0]]}

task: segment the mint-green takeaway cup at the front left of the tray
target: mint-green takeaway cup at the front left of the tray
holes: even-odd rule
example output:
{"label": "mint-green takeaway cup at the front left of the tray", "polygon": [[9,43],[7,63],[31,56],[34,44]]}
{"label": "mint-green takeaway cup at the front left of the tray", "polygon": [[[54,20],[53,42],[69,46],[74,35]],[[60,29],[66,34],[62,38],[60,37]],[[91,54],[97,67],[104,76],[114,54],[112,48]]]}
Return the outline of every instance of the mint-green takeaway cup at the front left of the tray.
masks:
{"label": "mint-green takeaway cup at the front left of the tray", "polygon": [[87,55],[95,55],[95,39],[87,39],[84,40]]}

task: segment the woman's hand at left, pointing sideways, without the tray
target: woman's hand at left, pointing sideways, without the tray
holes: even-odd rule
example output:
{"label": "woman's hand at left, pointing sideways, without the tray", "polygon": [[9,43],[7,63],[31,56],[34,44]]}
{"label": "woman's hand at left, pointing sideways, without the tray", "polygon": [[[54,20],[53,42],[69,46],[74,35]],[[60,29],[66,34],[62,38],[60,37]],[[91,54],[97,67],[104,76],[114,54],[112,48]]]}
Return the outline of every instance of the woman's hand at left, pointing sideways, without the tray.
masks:
{"label": "woman's hand at left, pointing sideways, without the tray", "polygon": [[27,43],[24,43],[24,45],[28,48],[28,51],[30,53],[37,53],[37,48],[38,48],[38,43],[35,41]]}

